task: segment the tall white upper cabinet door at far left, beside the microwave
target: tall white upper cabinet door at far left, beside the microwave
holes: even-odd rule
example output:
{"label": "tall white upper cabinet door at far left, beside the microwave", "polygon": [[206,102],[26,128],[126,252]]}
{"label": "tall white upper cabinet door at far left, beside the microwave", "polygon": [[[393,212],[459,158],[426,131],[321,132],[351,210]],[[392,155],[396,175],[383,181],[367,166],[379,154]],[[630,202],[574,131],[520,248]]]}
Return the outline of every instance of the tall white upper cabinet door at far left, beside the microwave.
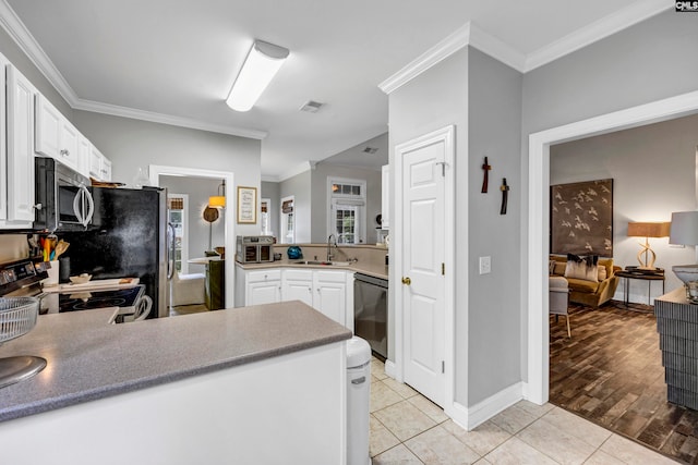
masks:
{"label": "tall white upper cabinet door at far left, beside the microwave", "polygon": [[16,227],[34,221],[34,96],[36,88],[14,66],[8,69],[8,208]]}

